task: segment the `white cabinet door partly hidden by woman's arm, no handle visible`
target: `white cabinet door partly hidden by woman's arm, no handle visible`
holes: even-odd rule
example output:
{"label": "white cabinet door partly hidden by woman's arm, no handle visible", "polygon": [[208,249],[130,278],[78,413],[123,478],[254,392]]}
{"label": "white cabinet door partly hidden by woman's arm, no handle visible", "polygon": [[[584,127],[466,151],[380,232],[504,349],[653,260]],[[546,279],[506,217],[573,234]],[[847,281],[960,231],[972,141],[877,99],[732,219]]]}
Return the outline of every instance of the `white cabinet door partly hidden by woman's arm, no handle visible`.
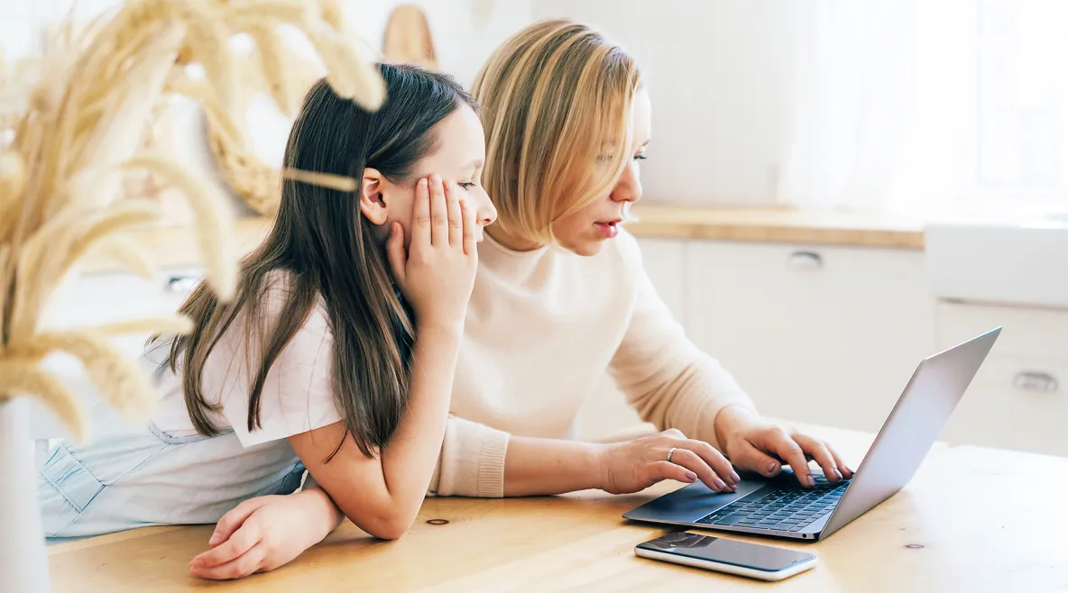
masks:
{"label": "white cabinet door partly hidden by woman's arm, no handle visible", "polygon": [[[686,242],[680,239],[639,239],[645,271],[668,308],[685,326]],[[579,437],[601,438],[641,422],[627,405],[624,395],[606,374],[600,385],[586,397],[579,411]]]}

